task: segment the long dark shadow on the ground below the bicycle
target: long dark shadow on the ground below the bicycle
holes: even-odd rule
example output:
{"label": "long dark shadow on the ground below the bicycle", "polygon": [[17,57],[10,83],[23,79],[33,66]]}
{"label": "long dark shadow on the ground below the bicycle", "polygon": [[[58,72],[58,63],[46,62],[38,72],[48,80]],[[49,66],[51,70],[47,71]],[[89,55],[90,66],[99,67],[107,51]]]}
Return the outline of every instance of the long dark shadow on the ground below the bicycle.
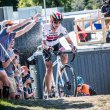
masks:
{"label": "long dark shadow on the ground below the bicycle", "polygon": [[[84,101],[65,101],[64,99],[8,100],[8,102],[12,103],[15,106],[18,106],[18,108],[15,108],[16,110],[29,110],[28,107],[42,107],[45,109],[83,109],[93,107],[92,103],[85,103]],[[24,106],[26,107],[26,109],[24,108]],[[14,108],[8,110],[14,110]]]}

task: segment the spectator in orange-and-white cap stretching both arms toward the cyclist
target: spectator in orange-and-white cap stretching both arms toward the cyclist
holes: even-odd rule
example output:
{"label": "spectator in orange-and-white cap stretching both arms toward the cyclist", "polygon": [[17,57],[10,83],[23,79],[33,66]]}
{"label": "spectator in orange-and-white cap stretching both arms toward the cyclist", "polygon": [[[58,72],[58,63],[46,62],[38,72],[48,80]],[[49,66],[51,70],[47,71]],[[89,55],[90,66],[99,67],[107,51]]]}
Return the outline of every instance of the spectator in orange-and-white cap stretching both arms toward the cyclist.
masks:
{"label": "spectator in orange-and-white cap stretching both arms toward the cyclist", "polygon": [[[34,20],[32,20],[32,18]],[[20,37],[21,35],[23,35],[27,31],[29,31],[36,24],[36,22],[38,21],[38,16],[35,15],[32,18],[28,18],[28,19],[26,19],[26,20],[24,20],[18,24],[14,24],[10,20],[4,20],[1,23],[1,31],[0,31],[0,78],[2,79],[2,82],[4,85],[3,86],[3,98],[9,97],[9,86],[10,86],[10,81],[9,81],[7,74],[6,74],[4,67],[3,67],[3,62],[5,62],[4,56],[6,54],[6,51],[9,47],[11,40],[14,38]],[[22,28],[21,30],[14,32],[14,30],[16,30],[22,26],[25,26],[25,27]],[[14,59],[13,57],[12,57],[12,59]],[[9,59],[8,63],[10,63],[11,61],[12,60]]]}

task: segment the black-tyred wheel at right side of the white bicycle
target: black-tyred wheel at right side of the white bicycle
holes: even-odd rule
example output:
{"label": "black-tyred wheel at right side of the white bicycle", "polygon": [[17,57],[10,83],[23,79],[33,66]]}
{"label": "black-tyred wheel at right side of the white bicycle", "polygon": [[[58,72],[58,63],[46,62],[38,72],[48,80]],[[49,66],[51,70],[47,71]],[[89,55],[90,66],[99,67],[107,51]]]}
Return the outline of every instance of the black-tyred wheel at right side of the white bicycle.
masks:
{"label": "black-tyred wheel at right side of the white bicycle", "polygon": [[76,75],[73,68],[68,64],[63,65],[61,68],[61,77],[58,78],[58,92],[61,96],[63,91],[64,96],[76,96],[77,95],[77,82]]}

